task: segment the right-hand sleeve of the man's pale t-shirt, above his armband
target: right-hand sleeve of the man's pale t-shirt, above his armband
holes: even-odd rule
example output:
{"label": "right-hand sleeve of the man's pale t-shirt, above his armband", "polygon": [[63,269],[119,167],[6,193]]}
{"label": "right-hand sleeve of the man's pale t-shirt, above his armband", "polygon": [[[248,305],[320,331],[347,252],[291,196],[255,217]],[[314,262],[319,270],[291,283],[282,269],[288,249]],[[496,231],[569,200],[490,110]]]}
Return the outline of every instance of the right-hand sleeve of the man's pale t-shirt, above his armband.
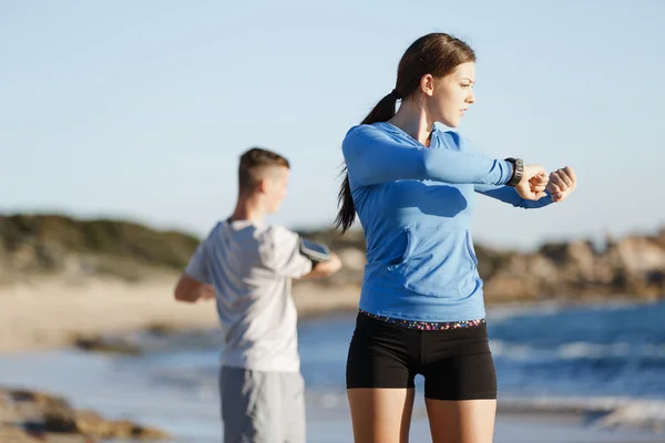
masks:
{"label": "right-hand sleeve of the man's pale t-shirt, above his armband", "polygon": [[311,260],[300,254],[300,237],[284,227],[268,230],[268,257],[266,265],[277,275],[299,278],[311,271]]}

